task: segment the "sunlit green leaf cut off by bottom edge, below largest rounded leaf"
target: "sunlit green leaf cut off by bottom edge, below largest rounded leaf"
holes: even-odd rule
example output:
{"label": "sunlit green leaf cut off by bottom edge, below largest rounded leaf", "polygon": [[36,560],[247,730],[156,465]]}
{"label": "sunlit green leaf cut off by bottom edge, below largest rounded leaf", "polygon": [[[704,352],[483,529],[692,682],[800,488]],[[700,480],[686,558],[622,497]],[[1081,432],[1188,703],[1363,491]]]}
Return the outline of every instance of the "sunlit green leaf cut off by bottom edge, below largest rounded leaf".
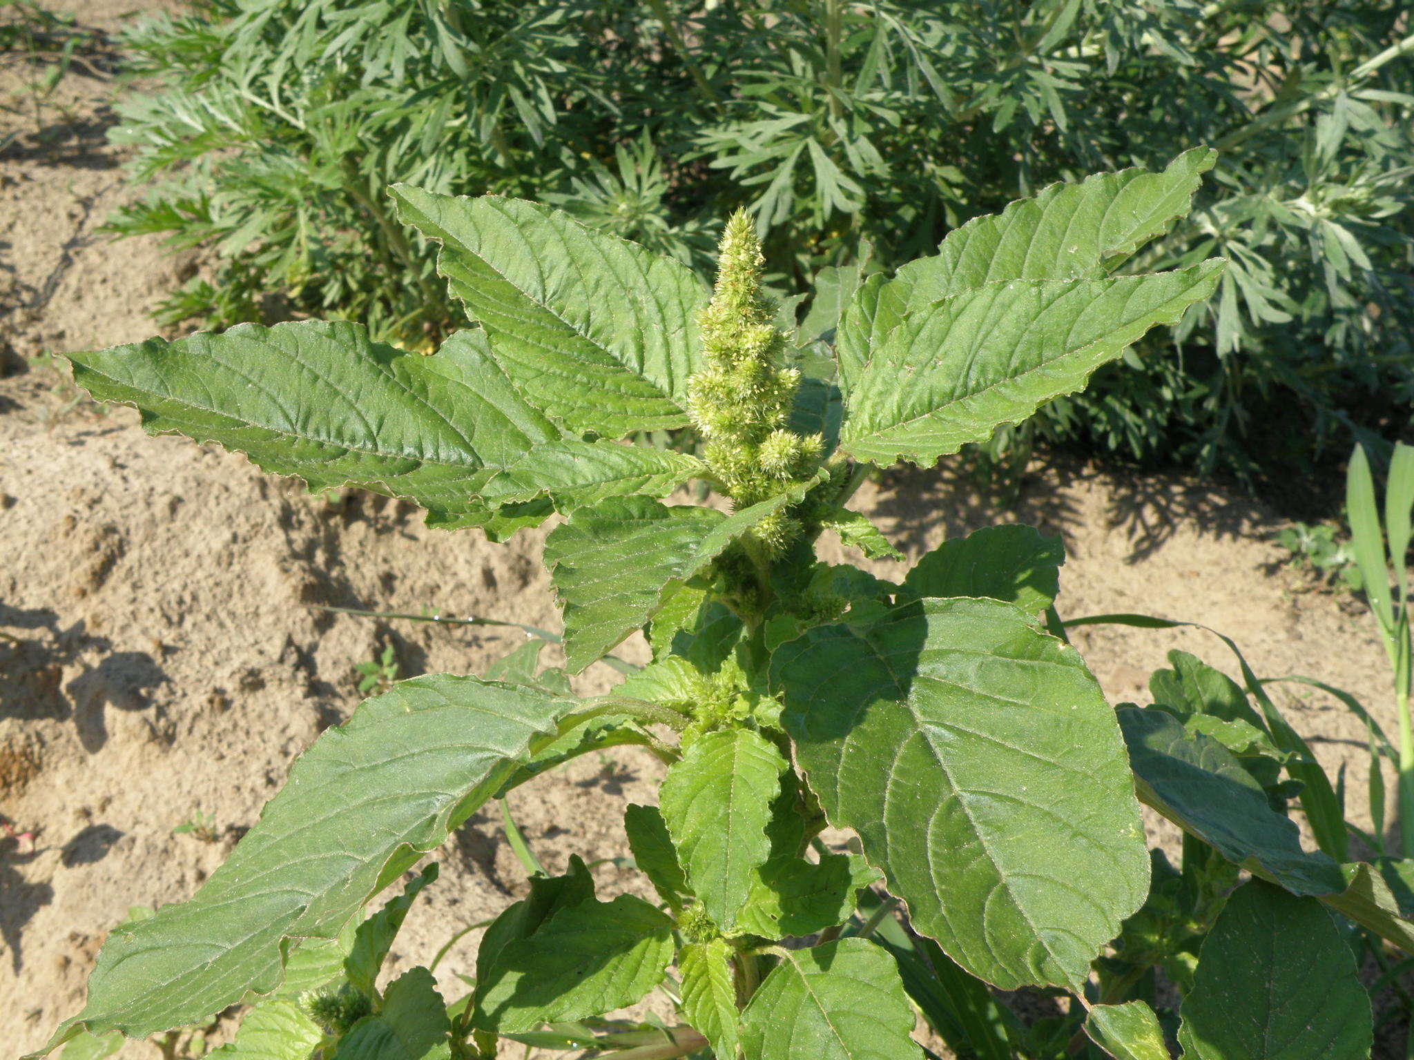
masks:
{"label": "sunlit green leaf cut off by bottom edge, below largest rounded leaf", "polygon": [[841,938],[790,950],[741,1013],[747,1060],[905,1060],[922,1052],[913,1009],[884,950]]}

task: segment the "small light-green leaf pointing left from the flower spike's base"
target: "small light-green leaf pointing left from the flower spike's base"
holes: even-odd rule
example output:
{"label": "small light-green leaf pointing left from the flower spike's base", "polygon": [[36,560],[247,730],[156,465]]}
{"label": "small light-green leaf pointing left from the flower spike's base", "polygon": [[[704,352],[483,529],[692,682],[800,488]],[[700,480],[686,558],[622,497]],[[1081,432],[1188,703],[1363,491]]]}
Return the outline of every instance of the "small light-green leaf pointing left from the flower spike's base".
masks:
{"label": "small light-green leaf pointing left from the flower spike's base", "polygon": [[665,497],[704,469],[696,457],[672,449],[566,438],[527,451],[481,483],[478,495],[492,505],[549,497],[568,513],[607,497]]}

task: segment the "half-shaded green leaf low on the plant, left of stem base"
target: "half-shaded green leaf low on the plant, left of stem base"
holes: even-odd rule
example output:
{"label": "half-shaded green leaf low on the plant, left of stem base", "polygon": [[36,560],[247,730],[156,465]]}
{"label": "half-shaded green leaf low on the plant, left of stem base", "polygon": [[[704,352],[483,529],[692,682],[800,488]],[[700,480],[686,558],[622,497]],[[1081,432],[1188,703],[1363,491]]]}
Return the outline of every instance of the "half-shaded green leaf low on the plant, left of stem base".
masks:
{"label": "half-shaded green leaf low on the plant, left of stem base", "polygon": [[672,929],[632,895],[564,905],[485,967],[478,958],[472,1025],[513,1033],[632,1005],[666,974]]}

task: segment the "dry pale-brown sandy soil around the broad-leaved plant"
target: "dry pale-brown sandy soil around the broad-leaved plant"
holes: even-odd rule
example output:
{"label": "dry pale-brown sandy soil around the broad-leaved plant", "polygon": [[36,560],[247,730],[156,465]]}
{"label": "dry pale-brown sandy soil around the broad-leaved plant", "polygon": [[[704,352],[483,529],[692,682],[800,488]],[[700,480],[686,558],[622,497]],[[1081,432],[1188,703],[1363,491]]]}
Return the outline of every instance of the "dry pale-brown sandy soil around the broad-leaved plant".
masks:
{"label": "dry pale-brown sandy soil around the broad-leaved plant", "polygon": [[[88,4],[85,17],[120,10]],[[129,195],[103,140],[109,90],[71,79],[71,133],[0,157],[0,355],[11,367],[146,338],[153,301],[192,269],[154,240],[95,235]],[[858,506],[911,557],[993,522],[1059,533],[1069,555],[1062,613],[1210,625],[1260,674],[1319,677],[1393,726],[1367,618],[1284,568],[1270,543],[1280,522],[1219,486],[1052,461],[1032,469],[1010,512],[946,472],[870,485]],[[557,629],[542,540],[492,546],[478,533],[428,531],[396,502],[310,497],[240,457],[143,435],[130,410],[79,401],[42,362],[0,380],[0,814],[37,832],[33,851],[0,841],[0,1057],[38,1046],[82,1003],[98,946],[129,906],[180,900],[222,861],[294,756],[358,702],[355,663],[392,644],[403,676],[477,673],[519,643],[321,606]],[[1076,643],[1114,702],[1141,698],[1174,646],[1234,671],[1226,649],[1196,630],[1100,628]],[[609,684],[601,669],[585,691]],[[1321,697],[1278,700],[1328,769],[1346,769],[1352,818],[1369,825],[1362,725]],[[626,849],[625,803],[652,801],[659,775],[632,753],[591,758],[534,782],[513,806],[549,868],[570,852],[615,858]],[[209,841],[173,834],[195,811],[215,821]],[[397,968],[523,890],[491,815],[468,823],[438,859],[443,879],[409,917]],[[612,864],[595,875],[608,893],[636,886]],[[475,938],[444,961],[448,991],[451,974],[469,971]]]}

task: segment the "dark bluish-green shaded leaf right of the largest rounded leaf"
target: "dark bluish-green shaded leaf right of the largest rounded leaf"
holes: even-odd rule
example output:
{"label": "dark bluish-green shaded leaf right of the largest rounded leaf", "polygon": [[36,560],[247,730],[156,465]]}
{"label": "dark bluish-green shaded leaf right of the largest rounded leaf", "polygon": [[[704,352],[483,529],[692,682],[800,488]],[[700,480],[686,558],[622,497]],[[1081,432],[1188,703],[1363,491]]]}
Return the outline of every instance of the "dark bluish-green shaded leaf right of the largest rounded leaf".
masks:
{"label": "dark bluish-green shaded leaf right of the largest rounded leaf", "polygon": [[1140,800],[1184,831],[1295,895],[1345,889],[1340,868],[1301,849],[1301,834],[1271,808],[1267,796],[1227,748],[1188,732],[1167,711],[1117,711],[1130,749]]}

